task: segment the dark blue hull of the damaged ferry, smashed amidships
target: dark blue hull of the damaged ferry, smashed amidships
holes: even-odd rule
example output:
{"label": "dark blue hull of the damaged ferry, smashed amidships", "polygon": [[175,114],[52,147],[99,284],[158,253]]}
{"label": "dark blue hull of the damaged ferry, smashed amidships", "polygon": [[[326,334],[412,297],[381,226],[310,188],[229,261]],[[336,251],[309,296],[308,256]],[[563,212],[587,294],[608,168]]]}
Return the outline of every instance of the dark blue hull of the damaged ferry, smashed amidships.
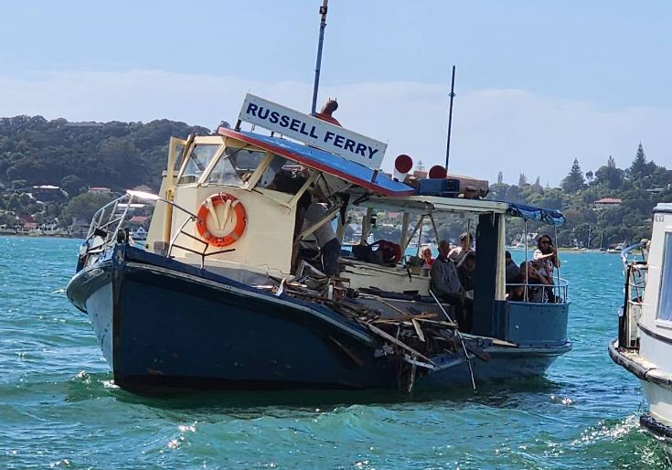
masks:
{"label": "dark blue hull of the damaged ferry, smashed amidships", "polygon": [[[355,320],[123,244],[78,272],[68,296],[90,315],[115,383],[128,390],[408,385],[400,362],[380,357],[378,336]],[[539,376],[567,350],[490,347],[489,361],[472,359],[475,378]],[[439,370],[418,368],[417,387],[471,384],[463,354],[432,359]]]}

